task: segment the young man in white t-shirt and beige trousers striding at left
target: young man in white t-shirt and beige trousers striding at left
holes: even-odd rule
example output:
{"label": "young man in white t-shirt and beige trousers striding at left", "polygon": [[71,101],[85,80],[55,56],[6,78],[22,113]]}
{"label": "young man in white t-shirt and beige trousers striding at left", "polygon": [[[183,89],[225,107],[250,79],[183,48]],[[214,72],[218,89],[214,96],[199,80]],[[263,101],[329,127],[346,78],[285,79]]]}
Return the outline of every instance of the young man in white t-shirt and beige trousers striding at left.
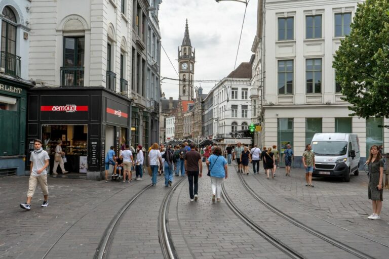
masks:
{"label": "young man in white t-shirt and beige trousers striding at left", "polygon": [[49,154],[43,150],[42,141],[34,140],[34,151],[30,154],[30,179],[28,180],[28,191],[26,203],[20,203],[20,207],[25,210],[31,209],[31,200],[34,196],[36,185],[41,186],[43,192],[42,207],[49,205],[49,189],[47,185],[47,170],[49,166]]}

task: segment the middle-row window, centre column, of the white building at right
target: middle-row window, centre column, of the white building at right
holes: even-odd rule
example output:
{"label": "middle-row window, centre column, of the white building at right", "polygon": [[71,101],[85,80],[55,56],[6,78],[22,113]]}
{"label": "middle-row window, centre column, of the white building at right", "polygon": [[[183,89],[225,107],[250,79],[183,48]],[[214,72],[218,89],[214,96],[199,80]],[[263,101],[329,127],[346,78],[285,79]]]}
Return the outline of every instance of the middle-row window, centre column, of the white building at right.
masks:
{"label": "middle-row window, centre column, of the white building at right", "polygon": [[306,93],[322,92],[322,59],[307,59],[305,66]]}

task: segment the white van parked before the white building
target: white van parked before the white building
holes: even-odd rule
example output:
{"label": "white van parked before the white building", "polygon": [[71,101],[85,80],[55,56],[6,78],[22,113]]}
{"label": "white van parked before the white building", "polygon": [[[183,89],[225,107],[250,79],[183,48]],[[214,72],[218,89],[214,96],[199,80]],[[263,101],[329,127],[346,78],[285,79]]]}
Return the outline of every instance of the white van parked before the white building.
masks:
{"label": "white van parked before the white building", "polygon": [[312,139],[312,151],[315,153],[313,176],[342,177],[350,181],[350,175],[359,174],[361,151],[357,134],[317,133]]}

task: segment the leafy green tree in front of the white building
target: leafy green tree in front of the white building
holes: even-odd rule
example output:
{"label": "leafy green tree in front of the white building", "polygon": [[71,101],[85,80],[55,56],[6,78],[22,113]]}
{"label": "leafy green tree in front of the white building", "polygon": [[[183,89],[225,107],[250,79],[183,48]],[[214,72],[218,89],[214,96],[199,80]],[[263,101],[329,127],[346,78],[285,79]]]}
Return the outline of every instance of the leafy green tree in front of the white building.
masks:
{"label": "leafy green tree in front of the white building", "polygon": [[350,116],[389,117],[389,1],[358,4],[332,66]]}

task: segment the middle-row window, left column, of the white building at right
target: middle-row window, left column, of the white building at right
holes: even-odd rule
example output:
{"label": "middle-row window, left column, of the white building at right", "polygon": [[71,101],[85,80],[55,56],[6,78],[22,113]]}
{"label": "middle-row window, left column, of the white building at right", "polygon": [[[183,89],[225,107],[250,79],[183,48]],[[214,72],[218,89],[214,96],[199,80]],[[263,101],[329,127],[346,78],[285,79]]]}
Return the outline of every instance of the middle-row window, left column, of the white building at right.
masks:
{"label": "middle-row window, left column, of the white building at right", "polygon": [[278,61],[278,94],[293,94],[293,60]]}

